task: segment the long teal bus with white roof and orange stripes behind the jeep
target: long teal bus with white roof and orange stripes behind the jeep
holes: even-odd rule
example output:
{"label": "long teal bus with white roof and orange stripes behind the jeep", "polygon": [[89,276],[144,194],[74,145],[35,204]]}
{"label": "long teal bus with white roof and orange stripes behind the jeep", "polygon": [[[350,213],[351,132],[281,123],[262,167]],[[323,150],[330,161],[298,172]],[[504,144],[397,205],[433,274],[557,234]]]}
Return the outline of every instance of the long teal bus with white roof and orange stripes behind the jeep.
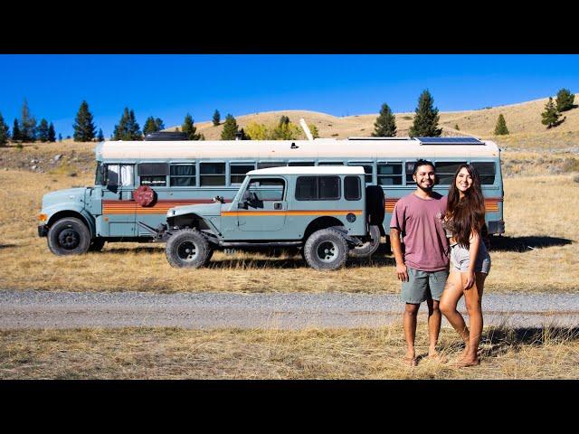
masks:
{"label": "long teal bus with white roof and orange stripes behind the jeep", "polygon": [[[173,207],[230,203],[250,170],[284,165],[356,165],[365,168],[366,185],[381,185],[385,195],[383,234],[398,199],[416,188],[413,163],[432,161],[447,194],[456,168],[479,169],[489,234],[504,232],[500,151],[492,142],[481,146],[423,146],[416,139],[316,139],[313,141],[103,142],[97,146],[94,186],[62,190],[43,197],[39,235],[46,235],[62,216],[77,216],[90,238],[104,241],[149,241],[151,232],[138,225],[166,223]],[[139,205],[133,193],[140,185],[154,192],[153,203]]]}

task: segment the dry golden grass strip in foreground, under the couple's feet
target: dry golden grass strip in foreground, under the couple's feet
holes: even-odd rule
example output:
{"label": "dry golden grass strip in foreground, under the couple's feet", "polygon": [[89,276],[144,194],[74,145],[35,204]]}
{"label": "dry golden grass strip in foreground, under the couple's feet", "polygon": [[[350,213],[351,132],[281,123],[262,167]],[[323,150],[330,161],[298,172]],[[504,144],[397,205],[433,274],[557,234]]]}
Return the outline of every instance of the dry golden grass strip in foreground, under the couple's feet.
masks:
{"label": "dry golden grass strip in foreground, under the couple's feet", "polygon": [[[301,331],[176,328],[0,332],[2,379],[574,379],[577,329],[487,328],[480,365],[406,366],[400,326]],[[427,353],[425,325],[417,355]],[[441,353],[461,351],[443,328]]]}

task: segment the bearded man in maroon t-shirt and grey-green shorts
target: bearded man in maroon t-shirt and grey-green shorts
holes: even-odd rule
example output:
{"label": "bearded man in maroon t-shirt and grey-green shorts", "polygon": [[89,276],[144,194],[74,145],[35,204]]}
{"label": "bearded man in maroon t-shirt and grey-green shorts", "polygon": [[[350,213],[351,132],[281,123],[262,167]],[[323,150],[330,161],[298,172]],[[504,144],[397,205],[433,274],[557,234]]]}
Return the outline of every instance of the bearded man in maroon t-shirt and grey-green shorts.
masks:
{"label": "bearded man in maroon t-shirt and grey-green shorts", "polygon": [[438,305],[449,275],[449,244],[442,228],[447,197],[432,191],[436,181],[434,165],[418,160],[414,164],[413,180],[416,190],[396,203],[390,222],[396,275],[402,280],[402,299],[406,303],[403,327],[408,349],[404,360],[411,366],[417,364],[416,316],[423,301],[428,306],[428,355],[438,358],[436,344],[441,331]]}

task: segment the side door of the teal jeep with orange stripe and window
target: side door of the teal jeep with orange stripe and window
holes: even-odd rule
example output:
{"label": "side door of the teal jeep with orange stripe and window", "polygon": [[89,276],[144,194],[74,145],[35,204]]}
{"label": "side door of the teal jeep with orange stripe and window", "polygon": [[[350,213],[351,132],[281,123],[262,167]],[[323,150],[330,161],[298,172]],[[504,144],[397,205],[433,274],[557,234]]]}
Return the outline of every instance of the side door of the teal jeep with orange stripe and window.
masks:
{"label": "side door of the teal jeep with orange stripe and window", "polygon": [[[283,178],[253,178],[242,194],[247,209],[240,208],[240,231],[281,231],[286,222],[286,182]],[[261,235],[262,237],[263,235]]]}

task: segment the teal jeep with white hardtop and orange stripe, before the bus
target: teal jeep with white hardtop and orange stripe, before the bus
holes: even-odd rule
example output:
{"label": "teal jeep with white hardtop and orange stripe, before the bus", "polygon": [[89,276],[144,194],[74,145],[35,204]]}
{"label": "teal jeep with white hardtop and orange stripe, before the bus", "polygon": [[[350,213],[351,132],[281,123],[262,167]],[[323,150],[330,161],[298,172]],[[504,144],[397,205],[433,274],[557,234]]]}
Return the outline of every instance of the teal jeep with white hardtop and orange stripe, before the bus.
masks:
{"label": "teal jeep with white hardtop and orange stripe, before the bus", "polygon": [[173,267],[203,267],[219,249],[293,247],[313,269],[338,269],[378,248],[383,220],[384,192],[365,186],[363,167],[289,166],[252,170],[232,203],[177,206],[145,229]]}

